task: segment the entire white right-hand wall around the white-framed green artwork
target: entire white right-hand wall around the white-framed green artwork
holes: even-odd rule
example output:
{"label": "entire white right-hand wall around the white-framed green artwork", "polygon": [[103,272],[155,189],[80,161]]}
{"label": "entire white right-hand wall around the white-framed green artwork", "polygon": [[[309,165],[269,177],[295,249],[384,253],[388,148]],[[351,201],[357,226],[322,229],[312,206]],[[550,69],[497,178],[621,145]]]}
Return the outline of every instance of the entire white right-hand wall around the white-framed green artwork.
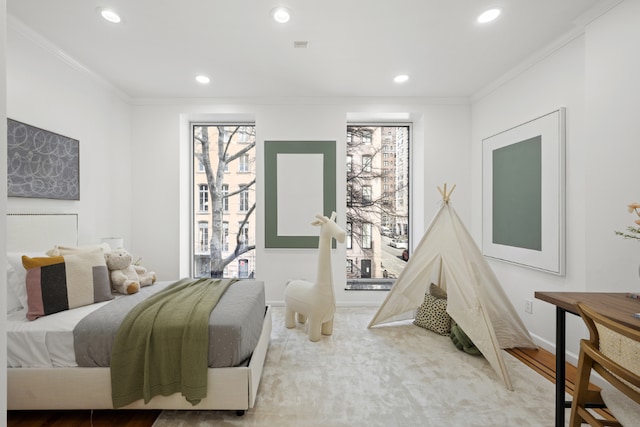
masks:
{"label": "entire white right-hand wall around the white-framed green artwork", "polygon": [[[535,300],[535,291],[623,292],[640,288],[640,245],[613,233],[632,224],[626,204],[640,200],[639,6],[640,2],[623,2],[587,25],[584,35],[472,105],[473,230],[478,241],[482,228],[482,139],[558,107],[567,108],[566,275],[490,261],[531,333],[551,350],[555,348],[555,307]],[[526,299],[534,301],[532,315],[524,312]],[[569,316],[567,326],[568,337],[585,335],[579,318]],[[567,348],[573,359],[578,339],[568,340]]]}

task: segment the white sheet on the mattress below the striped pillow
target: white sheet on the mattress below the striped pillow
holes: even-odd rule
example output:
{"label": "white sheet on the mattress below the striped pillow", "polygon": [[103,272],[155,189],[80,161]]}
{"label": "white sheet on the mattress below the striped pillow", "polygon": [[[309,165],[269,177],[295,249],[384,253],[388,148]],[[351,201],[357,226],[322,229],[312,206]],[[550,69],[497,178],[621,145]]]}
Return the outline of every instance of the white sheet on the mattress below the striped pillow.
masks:
{"label": "white sheet on the mattress below the striped pillow", "polygon": [[73,328],[110,301],[27,320],[23,308],[7,314],[7,367],[76,367]]}

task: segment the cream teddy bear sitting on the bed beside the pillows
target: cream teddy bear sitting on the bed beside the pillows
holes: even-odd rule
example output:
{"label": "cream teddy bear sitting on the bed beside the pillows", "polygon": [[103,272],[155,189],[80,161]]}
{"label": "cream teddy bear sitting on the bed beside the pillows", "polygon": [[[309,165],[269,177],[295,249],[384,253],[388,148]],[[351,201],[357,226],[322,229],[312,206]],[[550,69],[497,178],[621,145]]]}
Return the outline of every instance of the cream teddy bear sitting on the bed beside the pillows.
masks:
{"label": "cream teddy bear sitting on the bed beside the pillows", "polygon": [[132,264],[133,257],[125,249],[105,252],[104,258],[109,269],[111,285],[121,294],[135,294],[142,286],[152,285],[156,281],[156,273]]}

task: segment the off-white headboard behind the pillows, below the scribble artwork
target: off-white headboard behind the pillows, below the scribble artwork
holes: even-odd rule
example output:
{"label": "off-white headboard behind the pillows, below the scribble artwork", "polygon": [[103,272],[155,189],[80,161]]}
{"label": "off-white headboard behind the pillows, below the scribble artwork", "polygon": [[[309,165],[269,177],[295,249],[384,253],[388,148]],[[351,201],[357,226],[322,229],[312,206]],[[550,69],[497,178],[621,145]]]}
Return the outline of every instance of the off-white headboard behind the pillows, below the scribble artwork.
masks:
{"label": "off-white headboard behind the pillows, below the scribble artwork", "polygon": [[7,214],[7,252],[44,252],[55,245],[78,245],[78,214]]}

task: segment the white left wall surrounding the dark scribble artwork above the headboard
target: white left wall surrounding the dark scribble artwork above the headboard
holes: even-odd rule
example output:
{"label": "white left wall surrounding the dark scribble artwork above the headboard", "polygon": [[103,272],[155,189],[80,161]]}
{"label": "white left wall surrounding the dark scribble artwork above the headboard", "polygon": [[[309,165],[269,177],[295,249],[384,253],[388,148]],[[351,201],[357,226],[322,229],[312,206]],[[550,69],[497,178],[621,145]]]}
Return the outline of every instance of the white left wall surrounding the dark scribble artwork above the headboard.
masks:
{"label": "white left wall surrounding the dark scribble artwork above the headboard", "polygon": [[[108,84],[15,19],[7,28],[7,116],[80,141],[80,201],[8,199],[9,212],[77,212],[81,244],[131,239],[131,109]],[[6,134],[6,133],[5,133]],[[139,203],[136,200],[136,203]]]}

